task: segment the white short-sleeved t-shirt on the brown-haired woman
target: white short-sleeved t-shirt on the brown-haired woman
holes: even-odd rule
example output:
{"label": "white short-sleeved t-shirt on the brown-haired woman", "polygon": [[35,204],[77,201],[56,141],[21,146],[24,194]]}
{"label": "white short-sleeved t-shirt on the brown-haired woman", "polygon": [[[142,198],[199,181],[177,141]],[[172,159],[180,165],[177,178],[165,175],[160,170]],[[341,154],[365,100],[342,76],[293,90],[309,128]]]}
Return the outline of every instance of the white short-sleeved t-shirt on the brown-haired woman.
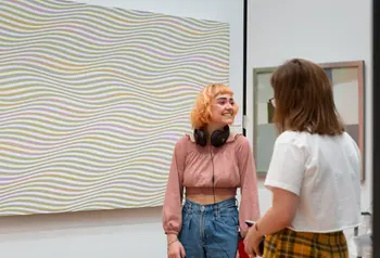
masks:
{"label": "white short-sleeved t-shirt on the brown-haired woman", "polygon": [[289,229],[335,232],[359,224],[360,152],[344,132],[337,137],[284,131],[276,140],[264,185],[300,196]]}

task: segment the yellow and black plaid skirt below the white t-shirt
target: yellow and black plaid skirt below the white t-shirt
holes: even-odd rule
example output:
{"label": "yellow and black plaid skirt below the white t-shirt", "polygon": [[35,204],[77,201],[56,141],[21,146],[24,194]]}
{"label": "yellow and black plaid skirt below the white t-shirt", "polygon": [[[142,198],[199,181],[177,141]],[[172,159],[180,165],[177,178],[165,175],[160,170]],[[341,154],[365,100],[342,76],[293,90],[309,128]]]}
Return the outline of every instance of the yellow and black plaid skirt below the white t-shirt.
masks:
{"label": "yellow and black plaid skirt below the white t-shirt", "polygon": [[265,236],[263,258],[349,258],[343,231],[306,233],[283,229]]}

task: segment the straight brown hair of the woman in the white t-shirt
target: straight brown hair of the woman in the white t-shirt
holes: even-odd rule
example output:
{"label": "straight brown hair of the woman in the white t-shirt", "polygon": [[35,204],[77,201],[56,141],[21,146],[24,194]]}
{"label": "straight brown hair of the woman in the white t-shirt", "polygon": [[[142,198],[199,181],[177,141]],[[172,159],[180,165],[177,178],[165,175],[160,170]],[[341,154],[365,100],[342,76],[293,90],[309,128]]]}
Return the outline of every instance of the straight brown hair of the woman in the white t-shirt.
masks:
{"label": "straight brown hair of the woman in the white t-shirt", "polygon": [[317,64],[293,59],[270,78],[275,91],[274,121],[284,130],[337,136],[344,131],[337,112],[330,79]]}

